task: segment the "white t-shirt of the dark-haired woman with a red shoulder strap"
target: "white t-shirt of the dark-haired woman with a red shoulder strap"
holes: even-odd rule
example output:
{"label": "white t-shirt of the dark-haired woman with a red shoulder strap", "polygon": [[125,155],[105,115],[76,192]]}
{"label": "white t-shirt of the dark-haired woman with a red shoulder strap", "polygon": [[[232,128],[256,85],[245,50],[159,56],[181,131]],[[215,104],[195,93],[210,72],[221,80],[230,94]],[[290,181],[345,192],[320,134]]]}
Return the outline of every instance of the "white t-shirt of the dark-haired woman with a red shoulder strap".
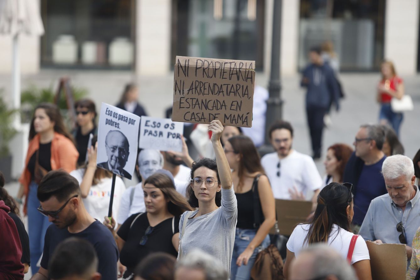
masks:
{"label": "white t-shirt of the dark-haired woman with a red shoulder strap", "polygon": [[[304,240],[308,234],[310,225],[297,225],[294,228],[289,241],[287,241],[287,249],[294,253],[294,256],[297,257],[302,251],[302,249],[306,248],[307,242],[304,243]],[[338,234],[337,234],[338,231]],[[328,245],[335,249],[344,259],[347,258],[347,254],[349,253],[350,241],[352,241],[353,233],[339,228],[338,225],[333,225],[333,229],[331,230],[330,236],[328,237]],[[367,250],[367,245],[365,240],[362,236],[359,236],[356,240],[356,245],[354,246],[352,262],[355,262],[370,259],[369,251]]]}

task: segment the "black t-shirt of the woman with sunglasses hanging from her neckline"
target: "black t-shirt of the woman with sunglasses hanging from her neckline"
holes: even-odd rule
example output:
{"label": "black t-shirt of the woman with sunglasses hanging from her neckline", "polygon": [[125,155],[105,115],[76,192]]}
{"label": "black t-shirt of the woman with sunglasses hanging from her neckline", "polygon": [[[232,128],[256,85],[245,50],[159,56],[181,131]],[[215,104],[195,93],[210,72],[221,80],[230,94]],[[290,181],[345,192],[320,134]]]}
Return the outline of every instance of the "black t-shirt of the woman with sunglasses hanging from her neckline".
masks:
{"label": "black t-shirt of the woman with sunglasses hanging from her neckline", "polygon": [[[147,235],[146,243],[140,245],[150,224],[147,213],[143,213],[136,219],[138,215],[139,213],[131,215],[117,232],[118,236],[126,241],[121,250],[120,262],[127,267],[127,273],[131,273],[145,256],[153,252],[165,252],[178,256],[178,252],[173,248],[172,237],[179,232],[180,217],[168,218],[155,225],[153,231]],[[130,228],[134,219],[136,221]]]}

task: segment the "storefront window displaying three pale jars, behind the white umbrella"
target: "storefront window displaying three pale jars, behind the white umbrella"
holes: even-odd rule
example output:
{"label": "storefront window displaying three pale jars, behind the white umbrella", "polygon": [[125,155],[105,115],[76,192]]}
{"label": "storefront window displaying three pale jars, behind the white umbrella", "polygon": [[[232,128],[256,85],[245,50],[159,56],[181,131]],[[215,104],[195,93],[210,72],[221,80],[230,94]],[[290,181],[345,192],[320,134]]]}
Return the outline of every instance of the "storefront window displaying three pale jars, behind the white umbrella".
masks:
{"label": "storefront window displaying three pale jars, behind the white umbrella", "polygon": [[135,0],[41,1],[41,66],[131,69]]}

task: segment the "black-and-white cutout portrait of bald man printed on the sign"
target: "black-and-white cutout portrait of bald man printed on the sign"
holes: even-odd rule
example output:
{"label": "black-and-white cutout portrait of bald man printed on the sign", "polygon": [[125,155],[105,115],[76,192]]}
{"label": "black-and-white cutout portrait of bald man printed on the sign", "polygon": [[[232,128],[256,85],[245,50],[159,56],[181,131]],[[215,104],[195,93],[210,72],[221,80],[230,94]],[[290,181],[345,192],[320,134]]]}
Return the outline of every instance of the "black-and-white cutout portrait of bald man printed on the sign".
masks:
{"label": "black-and-white cutout portrait of bald man printed on the sign", "polygon": [[110,170],[114,174],[131,180],[130,173],[123,169],[129,158],[129,147],[129,141],[121,131],[109,131],[105,138],[105,150],[108,161],[98,163],[98,167]]}

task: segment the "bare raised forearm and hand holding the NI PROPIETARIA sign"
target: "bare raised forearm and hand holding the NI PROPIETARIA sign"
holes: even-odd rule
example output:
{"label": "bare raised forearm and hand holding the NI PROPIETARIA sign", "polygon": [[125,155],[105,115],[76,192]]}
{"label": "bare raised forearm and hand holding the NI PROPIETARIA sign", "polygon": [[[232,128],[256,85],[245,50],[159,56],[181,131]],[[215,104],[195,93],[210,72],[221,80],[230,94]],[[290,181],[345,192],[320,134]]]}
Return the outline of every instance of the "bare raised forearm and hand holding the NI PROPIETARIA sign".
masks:
{"label": "bare raised forearm and hand holding the NI PROPIETARIA sign", "polygon": [[216,155],[217,170],[219,172],[220,183],[222,188],[232,188],[231,167],[229,167],[222,144],[220,143],[220,136],[222,135],[223,125],[220,120],[212,120],[209,124],[209,131],[212,132],[211,143],[213,145],[214,153]]}

